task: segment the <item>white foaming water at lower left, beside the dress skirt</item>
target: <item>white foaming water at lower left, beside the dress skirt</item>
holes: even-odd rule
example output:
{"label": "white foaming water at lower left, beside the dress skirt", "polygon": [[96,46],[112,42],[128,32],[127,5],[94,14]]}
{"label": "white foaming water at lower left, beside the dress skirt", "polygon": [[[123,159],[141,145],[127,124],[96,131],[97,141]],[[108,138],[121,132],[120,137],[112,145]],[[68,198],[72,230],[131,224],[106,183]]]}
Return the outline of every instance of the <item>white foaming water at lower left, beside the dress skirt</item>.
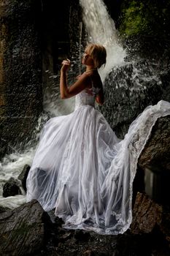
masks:
{"label": "white foaming water at lower left, beside the dress skirt", "polygon": [[[27,143],[26,149],[23,151],[23,153],[14,148],[14,152],[12,154],[7,154],[2,159],[2,162],[0,163],[0,206],[4,208],[16,208],[23,203],[26,203],[26,193],[20,185],[18,176],[22,172],[25,165],[31,166],[31,162],[36,151],[36,144],[39,140],[39,135],[45,121],[47,121],[47,116],[42,114],[37,122],[32,140]],[[15,195],[11,197],[2,196],[4,184],[9,181],[9,178],[16,181],[20,187],[22,195]]]}

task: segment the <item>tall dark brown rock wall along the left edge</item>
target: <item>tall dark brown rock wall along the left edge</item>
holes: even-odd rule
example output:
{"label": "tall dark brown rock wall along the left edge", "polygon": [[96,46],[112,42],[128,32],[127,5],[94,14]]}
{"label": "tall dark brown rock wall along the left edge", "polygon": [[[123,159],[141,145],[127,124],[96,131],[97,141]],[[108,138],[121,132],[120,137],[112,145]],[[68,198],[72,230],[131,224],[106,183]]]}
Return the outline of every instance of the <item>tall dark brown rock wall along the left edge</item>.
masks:
{"label": "tall dark brown rock wall along the left edge", "polygon": [[[0,1],[1,139],[22,144],[42,111],[39,1]],[[36,16],[37,15],[37,16]],[[2,152],[4,154],[4,152]]]}

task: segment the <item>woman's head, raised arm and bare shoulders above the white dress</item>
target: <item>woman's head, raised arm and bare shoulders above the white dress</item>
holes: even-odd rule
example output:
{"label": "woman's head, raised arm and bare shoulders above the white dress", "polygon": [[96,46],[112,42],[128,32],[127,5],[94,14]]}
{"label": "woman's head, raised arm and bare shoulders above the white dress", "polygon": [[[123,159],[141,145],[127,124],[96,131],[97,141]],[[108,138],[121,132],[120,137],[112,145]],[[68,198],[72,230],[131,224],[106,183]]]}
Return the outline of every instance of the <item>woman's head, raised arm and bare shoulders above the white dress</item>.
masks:
{"label": "woman's head, raised arm and bare shoulders above the white dress", "polygon": [[[88,45],[82,58],[82,64],[86,66],[86,71],[79,77],[76,83],[70,88],[67,86],[66,72],[70,67],[70,61],[63,61],[61,67],[61,99],[66,99],[79,94],[80,91],[86,89],[93,96],[96,96],[96,102],[102,105],[104,103],[103,85],[98,74],[98,68],[106,64],[107,51],[102,45]],[[91,90],[91,91],[90,91]]]}

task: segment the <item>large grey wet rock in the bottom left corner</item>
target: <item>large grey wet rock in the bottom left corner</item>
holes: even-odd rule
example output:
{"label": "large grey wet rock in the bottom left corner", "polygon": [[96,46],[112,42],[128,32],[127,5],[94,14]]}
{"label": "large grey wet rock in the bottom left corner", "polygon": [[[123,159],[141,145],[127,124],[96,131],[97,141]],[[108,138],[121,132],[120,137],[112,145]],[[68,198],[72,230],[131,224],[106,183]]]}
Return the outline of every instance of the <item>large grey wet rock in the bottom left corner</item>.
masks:
{"label": "large grey wet rock in the bottom left corner", "polygon": [[41,251],[47,214],[36,200],[0,214],[0,255],[30,255]]}

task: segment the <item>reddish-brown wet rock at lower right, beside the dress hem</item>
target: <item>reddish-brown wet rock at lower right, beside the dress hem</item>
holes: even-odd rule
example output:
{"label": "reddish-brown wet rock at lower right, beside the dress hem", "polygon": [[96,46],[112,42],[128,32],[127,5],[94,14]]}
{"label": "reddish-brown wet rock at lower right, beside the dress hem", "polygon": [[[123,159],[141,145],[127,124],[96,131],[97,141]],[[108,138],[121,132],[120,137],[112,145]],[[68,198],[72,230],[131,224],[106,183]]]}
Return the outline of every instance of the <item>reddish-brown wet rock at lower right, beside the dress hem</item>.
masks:
{"label": "reddish-brown wet rock at lower right, beside the dress hem", "polygon": [[138,193],[133,210],[131,234],[159,234],[170,249],[170,208],[155,203],[148,195]]}

